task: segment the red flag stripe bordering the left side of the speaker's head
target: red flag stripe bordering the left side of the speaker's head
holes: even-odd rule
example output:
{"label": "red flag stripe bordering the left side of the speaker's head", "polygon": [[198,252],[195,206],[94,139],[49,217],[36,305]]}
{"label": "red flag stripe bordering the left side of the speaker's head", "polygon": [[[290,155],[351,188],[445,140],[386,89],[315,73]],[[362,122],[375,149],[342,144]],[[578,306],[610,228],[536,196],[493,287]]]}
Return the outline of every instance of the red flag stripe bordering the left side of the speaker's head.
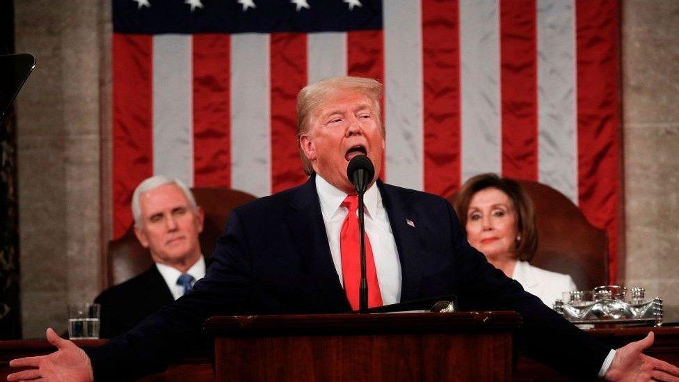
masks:
{"label": "red flag stripe bordering the left side of the speaker's head", "polygon": [[307,84],[307,38],[271,33],[271,191],[307,179],[297,141],[297,93]]}

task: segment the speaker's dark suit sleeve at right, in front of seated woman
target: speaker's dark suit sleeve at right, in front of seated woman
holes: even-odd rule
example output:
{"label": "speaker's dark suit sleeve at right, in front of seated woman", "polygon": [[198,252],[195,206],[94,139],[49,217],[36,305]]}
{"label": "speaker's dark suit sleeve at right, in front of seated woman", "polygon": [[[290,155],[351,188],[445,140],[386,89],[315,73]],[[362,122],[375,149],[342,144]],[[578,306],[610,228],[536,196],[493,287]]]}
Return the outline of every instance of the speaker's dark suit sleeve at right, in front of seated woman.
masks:
{"label": "speaker's dark suit sleeve at right, in front of seated woman", "polygon": [[475,250],[447,204],[456,256],[458,301],[462,310],[514,310],[522,326],[514,340],[527,356],[578,380],[597,378],[611,350],[543,304]]}

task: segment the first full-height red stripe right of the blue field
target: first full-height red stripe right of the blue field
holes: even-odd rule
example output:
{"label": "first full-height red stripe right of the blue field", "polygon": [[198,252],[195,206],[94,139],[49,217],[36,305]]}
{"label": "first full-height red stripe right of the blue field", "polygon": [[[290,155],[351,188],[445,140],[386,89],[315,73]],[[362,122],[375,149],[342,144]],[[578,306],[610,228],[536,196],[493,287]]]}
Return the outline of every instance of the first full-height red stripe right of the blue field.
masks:
{"label": "first full-height red stripe right of the blue field", "polygon": [[460,30],[457,1],[422,0],[424,191],[460,186]]}

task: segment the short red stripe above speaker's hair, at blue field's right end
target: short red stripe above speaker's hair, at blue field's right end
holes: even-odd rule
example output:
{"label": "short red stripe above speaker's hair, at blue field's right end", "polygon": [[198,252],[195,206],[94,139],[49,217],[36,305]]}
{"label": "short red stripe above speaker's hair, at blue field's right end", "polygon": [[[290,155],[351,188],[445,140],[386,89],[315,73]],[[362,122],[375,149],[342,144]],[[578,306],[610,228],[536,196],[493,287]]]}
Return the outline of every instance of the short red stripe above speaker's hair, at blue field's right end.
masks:
{"label": "short red stripe above speaker's hair, at blue field's right end", "polygon": [[[346,73],[350,76],[374,78],[384,83],[384,33],[382,31],[350,31],[346,33]],[[385,123],[384,100],[382,123]],[[382,157],[380,177],[385,180],[387,161]]]}

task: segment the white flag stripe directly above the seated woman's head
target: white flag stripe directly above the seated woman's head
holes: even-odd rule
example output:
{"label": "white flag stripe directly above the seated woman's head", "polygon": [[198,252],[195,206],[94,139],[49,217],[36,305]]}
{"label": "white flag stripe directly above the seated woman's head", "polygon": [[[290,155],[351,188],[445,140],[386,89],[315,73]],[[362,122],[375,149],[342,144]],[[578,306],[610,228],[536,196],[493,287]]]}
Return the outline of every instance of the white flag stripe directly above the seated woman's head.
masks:
{"label": "white flag stripe directly above the seated woman's head", "polygon": [[500,16],[496,0],[460,0],[462,181],[500,173]]}

